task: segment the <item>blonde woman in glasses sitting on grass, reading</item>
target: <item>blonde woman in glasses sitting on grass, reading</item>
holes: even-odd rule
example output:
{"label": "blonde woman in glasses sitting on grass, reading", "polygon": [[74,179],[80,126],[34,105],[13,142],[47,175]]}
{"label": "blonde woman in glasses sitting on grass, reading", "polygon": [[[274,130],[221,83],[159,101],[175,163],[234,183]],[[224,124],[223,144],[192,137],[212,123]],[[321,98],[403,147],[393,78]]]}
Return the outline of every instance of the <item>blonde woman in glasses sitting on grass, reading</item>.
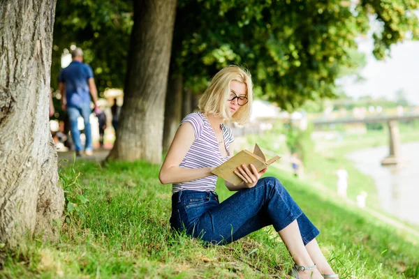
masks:
{"label": "blonde woman in glasses sitting on grass, reading", "polygon": [[237,191],[219,203],[217,177],[211,171],[233,155],[233,133],[223,121],[249,120],[252,103],[250,74],[238,66],[217,73],[199,107],[187,115],[177,130],[161,166],[161,183],[173,183],[170,225],[208,243],[226,244],[267,225],[279,232],[295,265],[293,278],[337,278],[323,256],[316,236],[318,229],[274,177],[260,179],[253,165],[237,167],[243,182]]}

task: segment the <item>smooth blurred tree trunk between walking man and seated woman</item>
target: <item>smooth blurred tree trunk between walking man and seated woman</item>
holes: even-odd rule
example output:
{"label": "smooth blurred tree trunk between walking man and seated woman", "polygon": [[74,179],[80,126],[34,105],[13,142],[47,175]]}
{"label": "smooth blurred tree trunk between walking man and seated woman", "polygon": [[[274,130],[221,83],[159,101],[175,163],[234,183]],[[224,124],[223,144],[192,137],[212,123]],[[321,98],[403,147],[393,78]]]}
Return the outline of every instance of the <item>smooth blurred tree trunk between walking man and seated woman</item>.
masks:
{"label": "smooth blurred tree trunk between walking man and seated woman", "polygon": [[161,163],[176,0],[134,1],[124,107],[108,158]]}

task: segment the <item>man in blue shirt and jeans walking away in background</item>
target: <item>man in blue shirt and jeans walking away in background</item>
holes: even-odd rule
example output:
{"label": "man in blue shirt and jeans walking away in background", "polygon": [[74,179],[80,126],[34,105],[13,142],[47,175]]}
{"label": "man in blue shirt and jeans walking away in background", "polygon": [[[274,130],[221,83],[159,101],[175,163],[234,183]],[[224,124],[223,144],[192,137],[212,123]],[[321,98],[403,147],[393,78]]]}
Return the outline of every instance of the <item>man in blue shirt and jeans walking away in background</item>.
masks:
{"label": "man in blue shirt and jeans walking away in background", "polygon": [[93,99],[96,110],[98,93],[94,84],[93,71],[90,66],[83,62],[83,52],[77,47],[71,52],[73,61],[59,74],[59,91],[61,91],[61,106],[67,110],[70,120],[71,137],[75,145],[76,156],[81,156],[83,149],[80,140],[80,130],[78,130],[78,117],[81,115],[84,119],[84,135],[86,142],[84,144],[84,153],[91,156],[93,153],[93,144],[91,142],[91,127],[89,116],[90,95]]}

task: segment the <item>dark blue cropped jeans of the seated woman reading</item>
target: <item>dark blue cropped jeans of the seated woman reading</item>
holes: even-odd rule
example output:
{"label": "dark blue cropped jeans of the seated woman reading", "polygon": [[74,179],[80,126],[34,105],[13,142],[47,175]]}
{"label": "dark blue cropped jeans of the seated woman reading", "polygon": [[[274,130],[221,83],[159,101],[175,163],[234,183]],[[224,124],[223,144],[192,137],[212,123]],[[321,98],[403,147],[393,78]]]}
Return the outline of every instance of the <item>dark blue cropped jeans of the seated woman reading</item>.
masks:
{"label": "dark blue cropped jeans of the seated woman reading", "polygon": [[279,232],[297,220],[304,245],[319,234],[281,182],[260,179],[256,186],[242,189],[219,203],[214,192],[182,190],[172,195],[170,225],[195,238],[227,244],[251,232],[273,225]]}

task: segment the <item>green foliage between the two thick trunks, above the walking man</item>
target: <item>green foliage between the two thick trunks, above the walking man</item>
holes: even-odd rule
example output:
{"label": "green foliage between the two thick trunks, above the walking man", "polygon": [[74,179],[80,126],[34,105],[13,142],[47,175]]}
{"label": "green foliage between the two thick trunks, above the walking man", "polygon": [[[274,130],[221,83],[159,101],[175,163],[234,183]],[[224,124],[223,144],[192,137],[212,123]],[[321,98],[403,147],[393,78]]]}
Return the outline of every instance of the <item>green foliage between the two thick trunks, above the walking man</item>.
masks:
{"label": "green foliage between the two thick trunks, above the walking man", "polygon": [[51,85],[58,88],[61,55],[72,44],[81,47],[94,70],[98,91],[122,88],[133,25],[131,1],[60,0],[54,22]]}

